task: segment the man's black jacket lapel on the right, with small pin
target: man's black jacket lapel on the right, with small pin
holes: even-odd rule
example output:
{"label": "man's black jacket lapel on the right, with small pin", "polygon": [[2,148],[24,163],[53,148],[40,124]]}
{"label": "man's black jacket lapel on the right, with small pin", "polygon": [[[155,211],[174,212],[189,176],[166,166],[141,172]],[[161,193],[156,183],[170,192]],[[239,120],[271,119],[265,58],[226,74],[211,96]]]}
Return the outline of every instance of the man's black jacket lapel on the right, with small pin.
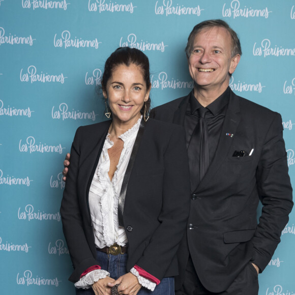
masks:
{"label": "man's black jacket lapel on the right, with small pin", "polygon": [[[222,126],[222,131],[220,134],[217,150],[215,156],[210,163],[210,166],[200,182],[196,190],[203,189],[208,187],[211,179],[213,178],[215,172],[218,170],[225,157],[228,154],[229,147],[232,144],[232,139],[234,137],[235,131],[237,130],[240,124],[240,99],[232,91],[230,91],[230,97],[228,102],[227,111],[224,117],[224,122]],[[226,135],[229,133],[231,135]]]}

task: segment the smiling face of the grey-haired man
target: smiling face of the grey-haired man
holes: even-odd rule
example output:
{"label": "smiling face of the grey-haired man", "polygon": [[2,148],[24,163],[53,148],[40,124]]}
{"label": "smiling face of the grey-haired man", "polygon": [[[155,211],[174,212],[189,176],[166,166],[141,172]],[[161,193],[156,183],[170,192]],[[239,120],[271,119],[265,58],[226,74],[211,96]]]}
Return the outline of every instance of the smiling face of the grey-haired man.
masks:
{"label": "smiling face of the grey-haired man", "polygon": [[224,27],[204,28],[196,36],[190,57],[189,72],[195,89],[222,93],[229,84],[240,61],[240,55],[231,57],[231,37]]}

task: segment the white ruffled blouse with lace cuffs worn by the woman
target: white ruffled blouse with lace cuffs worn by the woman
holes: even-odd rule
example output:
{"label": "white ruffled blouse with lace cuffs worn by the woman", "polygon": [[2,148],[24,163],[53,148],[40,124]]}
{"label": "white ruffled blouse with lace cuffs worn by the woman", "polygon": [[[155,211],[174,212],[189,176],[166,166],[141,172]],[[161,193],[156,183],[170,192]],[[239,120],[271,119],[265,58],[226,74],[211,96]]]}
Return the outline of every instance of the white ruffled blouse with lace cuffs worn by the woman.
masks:
{"label": "white ruffled blouse with lace cuffs worn by the woman", "polygon": [[[141,118],[142,116],[140,116],[131,129],[119,136],[124,141],[124,146],[112,180],[110,181],[108,176],[110,159],[107,150],[114,144],[109,139],[110,134],[106,137],[96,172],[94,173],[89,191],[89,206],[94,229],[95,245],[100,249],[105,246],[109,247],[114,243],[120,246],[125,246],[128,243],[125,229],[119,225],[117,212],[125,171],[139,130]],[[130,272],[138,278],[142,286],[152,291],[154,290],[156,283],[141,277],[134,268]],[[76,282],[75,287],[89,288],[94,282],[106,276],[109,276],[107,271],[94,270]]]}

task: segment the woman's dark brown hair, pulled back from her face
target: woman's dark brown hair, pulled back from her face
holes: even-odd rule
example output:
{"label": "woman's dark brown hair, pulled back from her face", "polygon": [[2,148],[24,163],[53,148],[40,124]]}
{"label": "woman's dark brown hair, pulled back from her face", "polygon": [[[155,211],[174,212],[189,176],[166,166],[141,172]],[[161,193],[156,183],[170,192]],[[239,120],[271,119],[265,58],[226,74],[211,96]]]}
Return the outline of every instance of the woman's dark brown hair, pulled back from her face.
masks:
{"label": "woman's dark brown hair, pulled back from her face", "polygon": [[[106,84],[108,79],[111,77],[115,68],[119,65],[126,65],[129,67],[131,64],[138,66],[141,69],[143,79],[146,83],[146,88],[151,87],[150,80],[150,62],[149,58],[140,50],[130,47],[119,47],[117,48],[106,60],[104,66],[104,72],[102,75],[101,86],[102,90],[106,90]],[[151,98],[146,101],[147,111],[150,111]],[[144,105],[142,106],[140,113],[143,114]]]}

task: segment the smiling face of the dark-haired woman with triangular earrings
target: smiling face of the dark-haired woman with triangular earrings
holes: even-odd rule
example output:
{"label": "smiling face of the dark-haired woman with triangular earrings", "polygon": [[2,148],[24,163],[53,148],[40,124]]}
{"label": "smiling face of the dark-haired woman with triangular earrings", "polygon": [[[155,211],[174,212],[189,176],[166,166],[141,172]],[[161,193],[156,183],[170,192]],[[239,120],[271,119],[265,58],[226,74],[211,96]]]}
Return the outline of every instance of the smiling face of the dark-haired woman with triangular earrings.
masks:
{"label": "smiling face of the dark-haired woman with triangular earrings", "polygon": [[134,125],[140,117],[143,103],[149,99],[140,67],[131,64],[117,66],[103,91],[112,111],[113,122]]}

